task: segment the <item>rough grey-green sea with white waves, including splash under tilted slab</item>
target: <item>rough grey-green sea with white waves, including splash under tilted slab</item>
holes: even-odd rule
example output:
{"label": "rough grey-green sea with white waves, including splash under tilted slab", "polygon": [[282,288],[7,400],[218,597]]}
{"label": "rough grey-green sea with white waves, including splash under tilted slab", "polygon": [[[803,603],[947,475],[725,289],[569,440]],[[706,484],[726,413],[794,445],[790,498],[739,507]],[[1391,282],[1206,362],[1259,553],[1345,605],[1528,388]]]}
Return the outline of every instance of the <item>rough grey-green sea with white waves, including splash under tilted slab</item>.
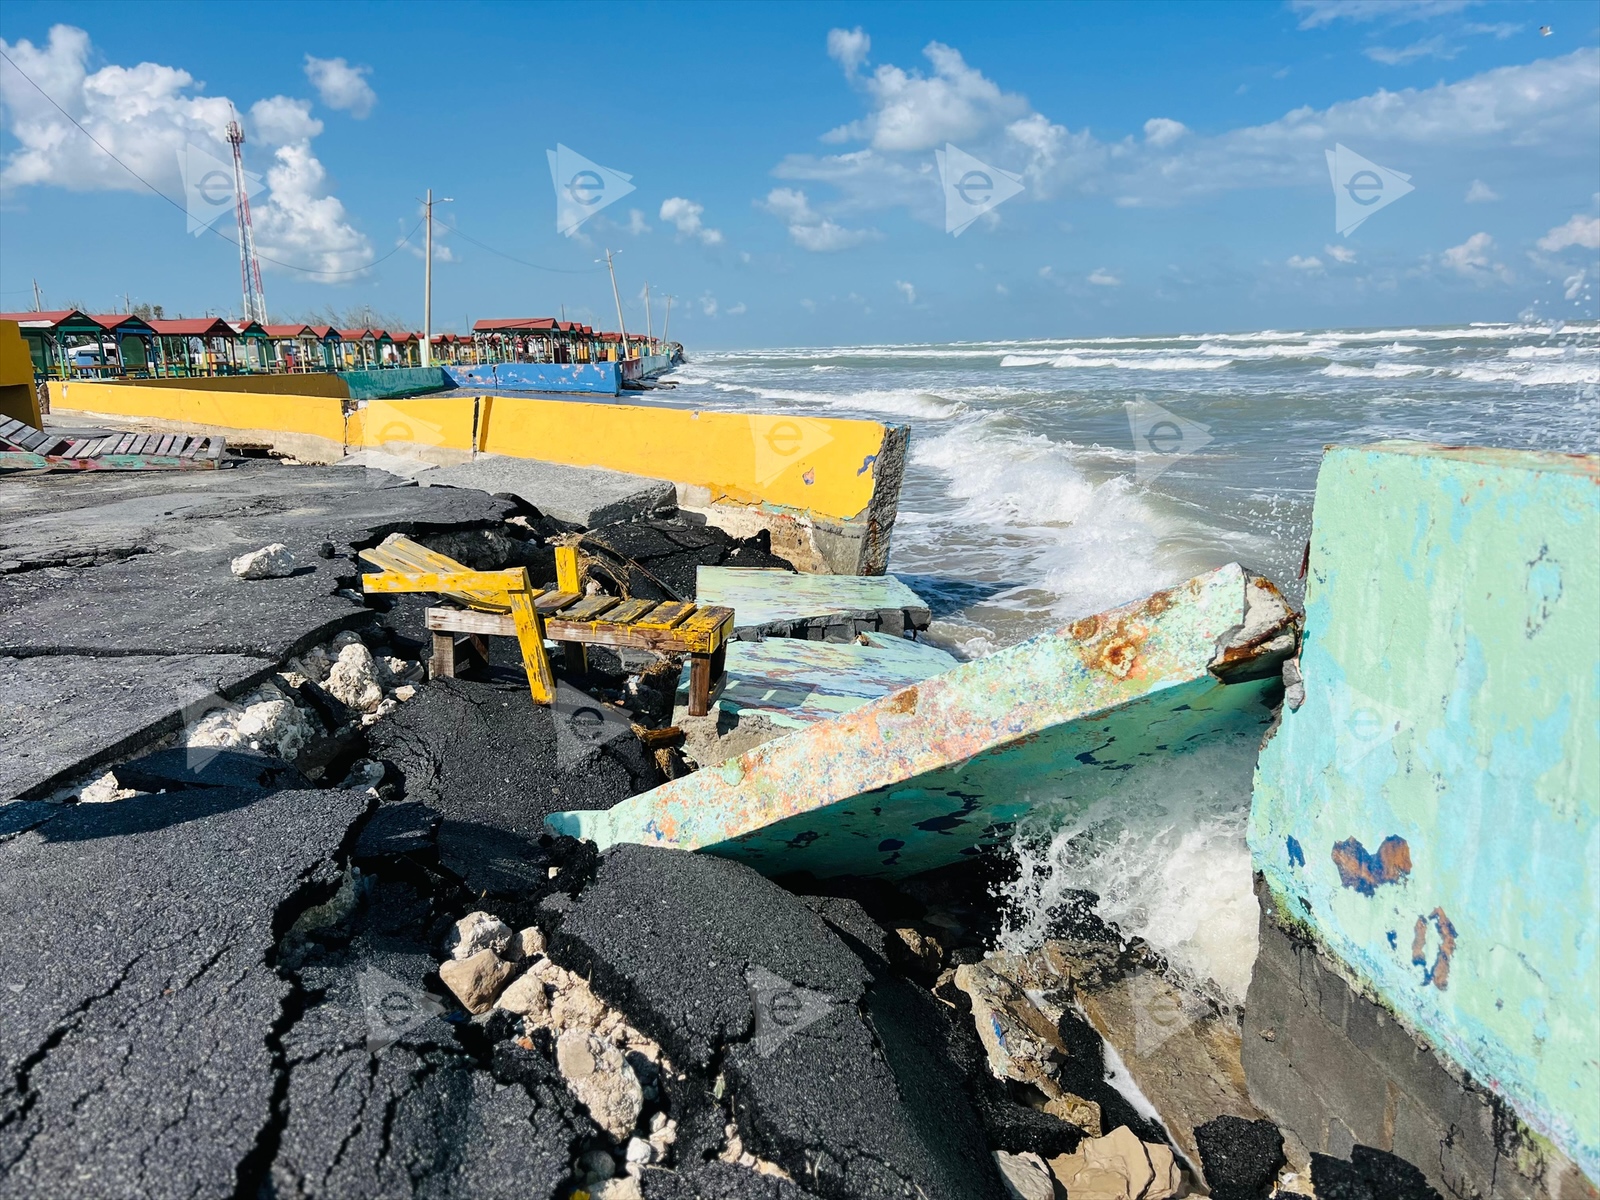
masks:
{"label": "rough grey-green sea with white waves, including splash under tilted slab", "polygon": [[[1600,450],[1592,322],[790,347],[693,354],[672,378],[674,406],[910,426],[890,570],[962,656],[1227,562],[1298,605],[1326,443]],[[1254,749],[1131,773],[1115,811],[1042,805],[1013,846],[1008,944],[1037,942],[1088,888],[1174,974],[1240,1002]]]}

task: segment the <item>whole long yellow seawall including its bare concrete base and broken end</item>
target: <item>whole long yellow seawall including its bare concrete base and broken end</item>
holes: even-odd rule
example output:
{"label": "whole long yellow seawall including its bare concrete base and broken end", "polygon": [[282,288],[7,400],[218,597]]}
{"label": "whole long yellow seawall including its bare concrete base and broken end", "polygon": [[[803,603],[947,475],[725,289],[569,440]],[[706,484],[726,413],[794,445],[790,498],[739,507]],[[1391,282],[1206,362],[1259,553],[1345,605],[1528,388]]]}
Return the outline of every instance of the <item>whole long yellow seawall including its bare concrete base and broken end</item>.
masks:
{"label": "whole long yellow seawall including its bare concrete base and broken end", "polygon": [[904,427],[843,418],[504,395],[352,402],[336,376],[314,374],[50,387],[51,406],[90,419],[222,434],[309,462],[502,454],[667,478],[682,507],[734,536],[768,530],[800,570],[840,574],[885,570],[907,440]]}

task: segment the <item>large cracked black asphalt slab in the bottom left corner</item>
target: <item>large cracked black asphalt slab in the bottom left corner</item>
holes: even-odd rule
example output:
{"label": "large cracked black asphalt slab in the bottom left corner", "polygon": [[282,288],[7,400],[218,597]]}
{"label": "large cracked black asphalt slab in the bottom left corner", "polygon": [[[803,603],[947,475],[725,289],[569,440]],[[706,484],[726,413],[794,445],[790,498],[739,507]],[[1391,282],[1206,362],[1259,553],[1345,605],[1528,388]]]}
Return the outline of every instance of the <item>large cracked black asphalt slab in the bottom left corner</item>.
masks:
{"label": "large cracked black asphalt slab in the bottom left corner", "polygon": [[0,843],[0,1197],[245,1189],[280,1106],[274,947],[368,803],[186,790]]}

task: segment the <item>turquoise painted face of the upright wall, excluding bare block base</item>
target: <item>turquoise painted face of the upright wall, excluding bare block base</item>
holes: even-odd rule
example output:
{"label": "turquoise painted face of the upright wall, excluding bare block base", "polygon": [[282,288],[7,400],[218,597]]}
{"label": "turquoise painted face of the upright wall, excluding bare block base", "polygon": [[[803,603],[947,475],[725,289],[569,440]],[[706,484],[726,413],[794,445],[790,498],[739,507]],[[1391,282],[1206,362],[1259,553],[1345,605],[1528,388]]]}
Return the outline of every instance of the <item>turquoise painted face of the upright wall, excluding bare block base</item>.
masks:
{"label": "turquoise painted face of the upright wall, excluding bare block base", "polygon": [[1330,450],[1301,670],[1256,869],[1600,1179],[1600,458]]}

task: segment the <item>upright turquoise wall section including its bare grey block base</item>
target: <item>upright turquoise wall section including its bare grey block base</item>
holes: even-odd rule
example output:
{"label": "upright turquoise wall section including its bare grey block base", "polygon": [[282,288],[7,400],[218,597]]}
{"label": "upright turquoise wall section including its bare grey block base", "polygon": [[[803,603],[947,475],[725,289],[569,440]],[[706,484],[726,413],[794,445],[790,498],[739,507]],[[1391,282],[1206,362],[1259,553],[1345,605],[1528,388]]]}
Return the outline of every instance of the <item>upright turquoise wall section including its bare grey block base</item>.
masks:
{"label": "upright turquoise wall section including its bare grey block base", "polygon": [[1446,1195],[1595,1194],[1597,546],[1595,456],[1323,459],[1304,699],[1251,805],[1243,1051],[1312,1150],[1392,1150]]}

